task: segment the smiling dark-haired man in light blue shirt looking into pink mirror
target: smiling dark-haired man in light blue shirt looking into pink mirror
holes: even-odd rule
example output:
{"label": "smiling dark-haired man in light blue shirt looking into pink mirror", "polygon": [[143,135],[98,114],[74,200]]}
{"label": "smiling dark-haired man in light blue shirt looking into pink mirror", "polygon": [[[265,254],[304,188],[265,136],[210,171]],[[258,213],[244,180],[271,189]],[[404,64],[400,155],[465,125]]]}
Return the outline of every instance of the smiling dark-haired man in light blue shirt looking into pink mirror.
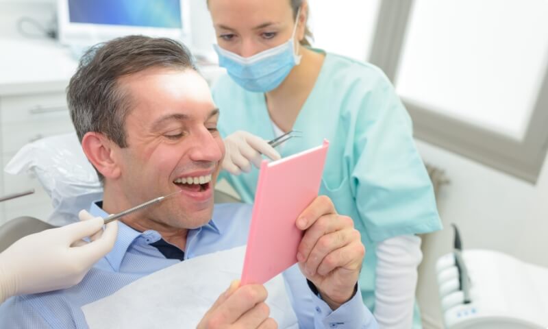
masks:
{"label": "smiling dark-haired man in light blue shirt looking into pink mirror", "polygon": [[[77,286],[8,300],[0,308],[0,328],[87,328],[85,304],[186,258],[243,245],[247,238],[245,208],[220,206],[212,216],[225,151],[216,130],[219,110],[182,45],[128,36],[95,47],[80,62],[67,99],[84,153],[104,185],[103,201],[92,205],[94,215],[180,193],[124,217],[112,252]],[[351,219],[337,215],[327,197],[318,197],[296,225],[305,231],[297,256],[304,276],[293,276],[288,286],[299,326],[375,328],[357,289],[364,247]],[[260,284],[232,284],[198,327],[275,328],[265,299]]]}

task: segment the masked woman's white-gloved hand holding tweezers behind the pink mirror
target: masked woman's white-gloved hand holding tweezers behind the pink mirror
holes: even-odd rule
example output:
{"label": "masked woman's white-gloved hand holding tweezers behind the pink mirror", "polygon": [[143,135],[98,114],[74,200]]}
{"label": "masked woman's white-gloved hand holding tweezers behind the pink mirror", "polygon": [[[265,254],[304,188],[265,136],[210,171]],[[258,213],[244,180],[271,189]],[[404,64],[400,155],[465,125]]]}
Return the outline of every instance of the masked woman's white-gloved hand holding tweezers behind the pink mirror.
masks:
{"label": "masked woman's white-gloved hand holding tweezers behind the pink mirror", "polygon": [[242,130],[230,134],[224,139],[224,142],[223,169],[232,173],[232,175],[240,175],[242,171],[249,173],[251,163],[259,168],[262,161],[261,154],[272,160],[281,158],[279,153],[267,141]]}

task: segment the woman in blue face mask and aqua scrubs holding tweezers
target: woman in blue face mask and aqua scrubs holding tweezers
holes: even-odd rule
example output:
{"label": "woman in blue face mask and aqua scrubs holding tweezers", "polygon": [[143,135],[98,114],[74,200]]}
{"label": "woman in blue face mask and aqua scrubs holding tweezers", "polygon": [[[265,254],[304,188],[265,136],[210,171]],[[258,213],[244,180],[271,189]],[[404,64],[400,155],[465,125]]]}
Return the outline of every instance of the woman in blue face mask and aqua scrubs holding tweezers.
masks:
{"label": "woman in blue face mask and aqua scrubs holding tweezers", "polygon": [[[228,73],[213,88],[223,113],[221,177],[251,203],[258,179],[251,163],[257,167],[261,154],[277,159],[327,138],[320,194],[362,233],[364,303],[382,328],[421,328],[415,234],[440,230],[441,223],[410,117],[393,86],[371,64],[310,47],[306,1],[208,0],[208,8],[214,49]],[[303,137],[277,154],[266,141],[290,130]]]}

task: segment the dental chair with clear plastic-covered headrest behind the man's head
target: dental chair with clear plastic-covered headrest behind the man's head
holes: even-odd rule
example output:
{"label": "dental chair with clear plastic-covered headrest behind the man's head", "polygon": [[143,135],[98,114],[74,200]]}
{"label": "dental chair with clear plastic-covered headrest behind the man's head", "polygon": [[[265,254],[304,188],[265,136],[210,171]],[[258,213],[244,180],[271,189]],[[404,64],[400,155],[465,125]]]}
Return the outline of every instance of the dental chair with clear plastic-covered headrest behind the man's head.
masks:
{"label": "dental chair with clear plastic-covered headrest behind the man's head", "polygon": [[[1,225],[0,252],[23,236],[78,221],[79,210],[87,208],[102,195],[99,178],[75,133],[42,138],[25,145],[6,165],[5,171],[35,175],[51,197],[54,210],[46,221],[21,216]],[[214,202],[232,203],[240,202],[240,199],[215,190]]]}

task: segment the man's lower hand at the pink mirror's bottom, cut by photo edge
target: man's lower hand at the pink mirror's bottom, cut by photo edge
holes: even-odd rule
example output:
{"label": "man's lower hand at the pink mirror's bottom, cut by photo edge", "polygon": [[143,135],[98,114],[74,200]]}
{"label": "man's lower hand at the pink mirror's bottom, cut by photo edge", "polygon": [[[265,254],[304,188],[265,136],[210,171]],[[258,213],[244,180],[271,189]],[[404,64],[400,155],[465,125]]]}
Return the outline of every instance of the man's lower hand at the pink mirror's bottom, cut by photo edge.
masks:
{"label": "man's lower hand at the pink mirror's bottom, cut by photo edge", "polygon": [[276,329],[274,319],[269,317],[270,308],[264,303],[266,289],[261,284],[240,286],[233,281],[222,293],[198,324],[198,329]]}

